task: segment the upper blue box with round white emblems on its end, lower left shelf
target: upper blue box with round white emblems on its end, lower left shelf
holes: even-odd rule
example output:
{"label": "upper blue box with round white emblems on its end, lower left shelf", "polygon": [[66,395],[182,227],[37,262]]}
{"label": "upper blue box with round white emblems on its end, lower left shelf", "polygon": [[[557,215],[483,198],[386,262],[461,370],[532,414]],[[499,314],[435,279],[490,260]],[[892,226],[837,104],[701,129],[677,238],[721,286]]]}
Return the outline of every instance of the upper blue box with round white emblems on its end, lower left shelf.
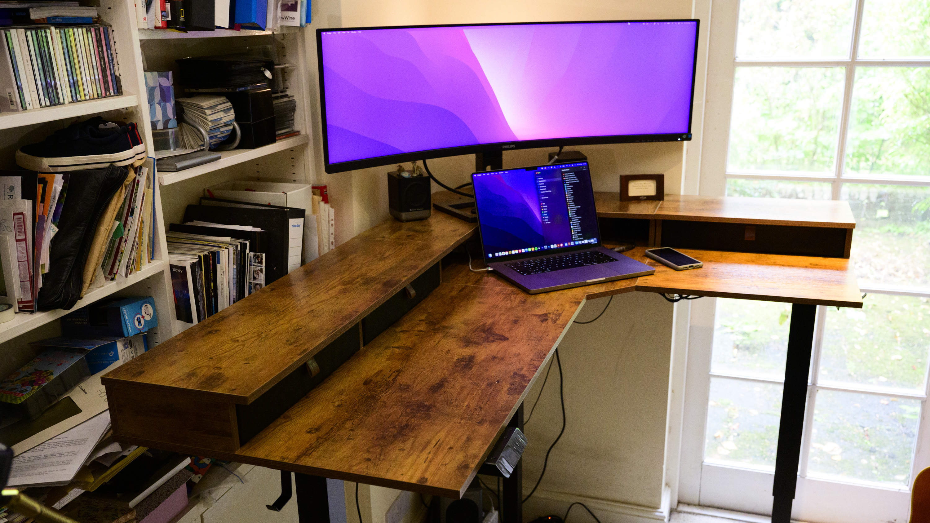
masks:
{"label": "upper blue box with round white emblems on its end, lower left shelf", "polygon": [[126,338],[158,327],[152,297],[101,300],[61,318],[61,334],[77,338]]}

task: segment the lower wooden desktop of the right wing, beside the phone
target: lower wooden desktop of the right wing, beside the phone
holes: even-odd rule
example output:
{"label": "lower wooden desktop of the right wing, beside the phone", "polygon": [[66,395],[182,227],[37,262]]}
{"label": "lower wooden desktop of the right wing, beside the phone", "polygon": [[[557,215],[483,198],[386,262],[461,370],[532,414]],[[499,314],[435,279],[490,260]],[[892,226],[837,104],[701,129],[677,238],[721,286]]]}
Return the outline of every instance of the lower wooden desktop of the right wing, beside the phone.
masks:
{"label": "lower wooden desktop of the right wing, beside the phone", "polygon": [[704,266],[675,271],[652,260],[643,261],[656,267],[656,274],[641,276],[636,290],[862,308],[856,275],[844,258],[678,250]]}

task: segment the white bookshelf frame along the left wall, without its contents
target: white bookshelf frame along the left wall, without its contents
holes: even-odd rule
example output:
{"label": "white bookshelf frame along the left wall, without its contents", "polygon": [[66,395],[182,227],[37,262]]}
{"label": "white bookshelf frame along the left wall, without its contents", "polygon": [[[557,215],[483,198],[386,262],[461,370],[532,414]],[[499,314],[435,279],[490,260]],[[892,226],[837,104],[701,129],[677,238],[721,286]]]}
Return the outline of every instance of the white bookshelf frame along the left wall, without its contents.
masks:
{"label": "white bookshelf frame along the left wall, without its contents", "polygon": [[[119,63],[123,95],[93,101],[82,101],[19,113],[0,114],[0,168],[16,168],[14,152],[22,145],[42,141],[51,132],[74,121],[102,114],[113,120],[136,122],[143,140],[152,152],[152,126],[143,71],[167,71],[179,78],[174,60],[191,56],[218,55],[235,52],[242,47],[273,46],[279,61],[297,67],[288,68],[286,86],[297,99],[295,127],[300,135],[257,149],[237,149],[223,152],[218,162],[177,173],[158,174],[155,191],[157,260],[126,279],[107,282],[87,292],[74,309],[113,295],[151,295],[155,299],[159,326],[153,329],[150,345],[165,342],[184,329],[177,321],[171,275],[167,262],[165,231],[167,224],[179,222],[183,209],[197,203],[203,188],[220,181],[236,178],[288,178],[312,180],[310,117],[307,111],[308,84],[307,46],[312,44],[309,28],[287,27],[276,33],[268,31],[227,31],[175,33],[166,30],[140,30],[136,25],[135,0],[95,0],[100,18],[113,27],[116,60]],[[176,80],[176,84],[177,84]],[[183,96],[180,90],[176,97]],[[166,205],[163,207],[163,202]],[[56,320],[70,311],[54,310],[37,314],[18,314],[15,319],[0,324],[0,373],[17,369],[35,355],[29,342],[60,333]]]}

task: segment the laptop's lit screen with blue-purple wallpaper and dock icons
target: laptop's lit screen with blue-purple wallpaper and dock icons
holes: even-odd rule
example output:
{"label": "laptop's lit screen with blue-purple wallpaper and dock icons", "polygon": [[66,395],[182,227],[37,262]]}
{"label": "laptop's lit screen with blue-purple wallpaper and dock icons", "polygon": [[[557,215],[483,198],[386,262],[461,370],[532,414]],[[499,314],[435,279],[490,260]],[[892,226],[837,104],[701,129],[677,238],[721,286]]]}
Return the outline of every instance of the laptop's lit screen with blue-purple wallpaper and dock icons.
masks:
{"label": "laptop's lit screen with blue-purple wallpaper and dock icons", "polygon": [[472,182],[485,259],[598,245],[588,162],[476,172]]}

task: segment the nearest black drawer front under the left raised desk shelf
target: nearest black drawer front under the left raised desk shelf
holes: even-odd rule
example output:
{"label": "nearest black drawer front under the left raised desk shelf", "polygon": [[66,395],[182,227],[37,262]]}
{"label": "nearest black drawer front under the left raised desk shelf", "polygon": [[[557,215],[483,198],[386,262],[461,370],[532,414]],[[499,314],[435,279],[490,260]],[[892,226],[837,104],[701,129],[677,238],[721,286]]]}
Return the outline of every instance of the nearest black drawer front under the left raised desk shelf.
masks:
{"label": "nearest black drawer front under the left raised desk shelf", "polygon": [[246,441],[258,435],[265,427],[281,417],[287,409],[293,407],[301,397],[307,396],[313,387],[326,380],[327,376],[357,353],[358,339],[358,325],[355,325],[339,336],[335,342],[329,343],[322,351],[313,355],[313,360],[320,368],[316,376],[311,376],[307,366],[301,365],[252,403],[236,405],[239,445],[245,445]]}

